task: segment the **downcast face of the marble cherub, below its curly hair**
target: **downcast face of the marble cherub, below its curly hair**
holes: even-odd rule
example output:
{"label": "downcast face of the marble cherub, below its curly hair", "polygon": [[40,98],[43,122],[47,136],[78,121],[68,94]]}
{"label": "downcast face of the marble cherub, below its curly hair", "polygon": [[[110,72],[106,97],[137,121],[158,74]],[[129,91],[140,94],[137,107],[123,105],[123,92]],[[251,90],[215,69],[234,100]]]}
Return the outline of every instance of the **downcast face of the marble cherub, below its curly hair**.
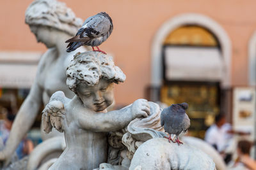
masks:
{"label": "downcast face of the marble cherub, below its curly hair", "polygon": [[99,83],[95,86],[79,83],[77,96],[86,108],[93,111],[105,110],[114,101],[113,83],[103,78],[100,78]]}

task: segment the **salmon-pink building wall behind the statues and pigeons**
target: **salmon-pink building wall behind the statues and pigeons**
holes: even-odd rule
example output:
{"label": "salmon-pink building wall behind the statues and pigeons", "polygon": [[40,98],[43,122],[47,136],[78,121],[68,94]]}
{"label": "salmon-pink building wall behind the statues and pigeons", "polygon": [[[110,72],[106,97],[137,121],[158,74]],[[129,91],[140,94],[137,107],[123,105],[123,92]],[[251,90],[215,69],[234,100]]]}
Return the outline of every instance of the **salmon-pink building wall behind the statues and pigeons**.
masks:
{"label": "salmon-pink building wall behind the statues and pigeons", "polygon": [[[24,24],[24,13],[32,1],[1,0],[0,50],[45,51]],[[117,103],[131,103],[145,97],[150,83],[150,47],[157,29],[182,13],[200,13],[214,19],[232,41],[232,86],[248,85],[248,41],[256,30],[256,1],[248,0],[65,0],[83,20],[99,11],[113,19],[114,30],[101,48],[113,53],[115,62],[127,75],[115,86]],[[135,62],[136,61],[136,62]]]}

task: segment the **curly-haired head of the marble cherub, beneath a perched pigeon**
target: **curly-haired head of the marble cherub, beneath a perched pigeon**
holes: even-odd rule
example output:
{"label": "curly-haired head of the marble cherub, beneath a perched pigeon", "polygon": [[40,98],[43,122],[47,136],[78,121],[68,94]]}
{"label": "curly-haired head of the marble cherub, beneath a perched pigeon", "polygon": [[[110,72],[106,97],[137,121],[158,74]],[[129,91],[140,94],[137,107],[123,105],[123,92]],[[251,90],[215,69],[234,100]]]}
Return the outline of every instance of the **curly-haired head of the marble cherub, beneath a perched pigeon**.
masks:
{"label": "curly-haired head of the marble cherub, beneath a perched pigeon", "polygon": [[112,57],[101,52],[77,53],[67,67],[67,85],[86,108],[102,111],[113,103],[113,83],[124,82],[125,74]]}

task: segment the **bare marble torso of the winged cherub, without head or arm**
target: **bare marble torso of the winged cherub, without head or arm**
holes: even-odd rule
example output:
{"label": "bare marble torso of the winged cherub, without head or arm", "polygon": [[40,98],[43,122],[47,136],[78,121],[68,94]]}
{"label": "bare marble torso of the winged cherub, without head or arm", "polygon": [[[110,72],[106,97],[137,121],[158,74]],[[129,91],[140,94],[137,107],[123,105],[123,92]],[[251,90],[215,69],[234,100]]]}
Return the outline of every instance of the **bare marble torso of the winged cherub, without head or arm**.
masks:
{"label": "bare marble torso of the winged cherub, without head or arm", "polygon": [[[71,106],[70,106],[71,105]],[[91,170],[99,164],[107,162],[107,132],[93,132],[82,129],[77,124],[77,111],[92,112],[84,107],[65,104],[64,134],[66,148],[59,159],[51,166],[52,169],[84,169]],[[97,114],[97,113],[94,113]]]}

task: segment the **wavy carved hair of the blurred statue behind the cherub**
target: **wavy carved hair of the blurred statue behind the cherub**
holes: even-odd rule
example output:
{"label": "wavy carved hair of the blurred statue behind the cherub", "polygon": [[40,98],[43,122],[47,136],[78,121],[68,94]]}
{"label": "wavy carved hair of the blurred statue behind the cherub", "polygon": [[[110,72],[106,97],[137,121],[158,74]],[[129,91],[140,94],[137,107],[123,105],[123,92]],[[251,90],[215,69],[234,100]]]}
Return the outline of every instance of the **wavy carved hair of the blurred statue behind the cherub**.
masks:
{"label": "wavy carved hair of the blurred statue behind the cherub", "polygon": [[54,27],[67,32],[71,36],[83,24],[81,18],[76,18],[74,12],[65,3],[56,0],[35,0],[26,10],[25,22],[28,25]]}

